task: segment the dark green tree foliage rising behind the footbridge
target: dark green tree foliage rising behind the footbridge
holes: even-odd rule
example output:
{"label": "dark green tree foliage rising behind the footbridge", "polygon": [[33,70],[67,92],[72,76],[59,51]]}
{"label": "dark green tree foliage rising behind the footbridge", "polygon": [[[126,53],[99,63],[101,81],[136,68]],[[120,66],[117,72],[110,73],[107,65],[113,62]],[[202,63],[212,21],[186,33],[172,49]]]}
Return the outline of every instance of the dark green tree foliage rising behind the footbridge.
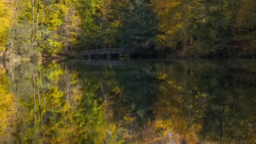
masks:
{"label": "dark green tree foliage rising behind the footbridge", "polygon": [[124,13],[122,26],[117,34],[119,45],[123,48],[148,49],[154,46],[156,34],[155,16],[144,0],[129,3]]}

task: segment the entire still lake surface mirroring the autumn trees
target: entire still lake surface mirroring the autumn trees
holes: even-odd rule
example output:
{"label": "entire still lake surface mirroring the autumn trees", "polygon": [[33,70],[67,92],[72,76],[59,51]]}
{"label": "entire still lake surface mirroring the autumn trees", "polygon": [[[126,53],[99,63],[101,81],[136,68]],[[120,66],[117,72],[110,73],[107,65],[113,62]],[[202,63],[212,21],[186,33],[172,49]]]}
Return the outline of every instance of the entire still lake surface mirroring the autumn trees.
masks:
{"label": "entire still lake surface mirroring the autumn trees", "polygon": [[253,60],[0,63],[1,144],[253,144],[255,107]]}

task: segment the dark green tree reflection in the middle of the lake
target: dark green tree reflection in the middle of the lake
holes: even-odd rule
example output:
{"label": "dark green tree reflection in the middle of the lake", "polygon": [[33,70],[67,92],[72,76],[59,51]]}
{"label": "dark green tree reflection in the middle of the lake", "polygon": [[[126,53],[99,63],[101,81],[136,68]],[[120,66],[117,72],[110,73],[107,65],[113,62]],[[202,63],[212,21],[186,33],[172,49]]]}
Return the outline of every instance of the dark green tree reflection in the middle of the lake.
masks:
{"label": "dark green tree reflection in the middle of the lake", "polygon": [[115,69],[115,74],[109,77],[109,80],[116,81],[110,107],[114,112],[112,118],[120,120],[121,126],[128,131],[127,140],[141,143],[144,126],[153,118],[158,80],[152,74],[154,67],[143,62],[136,65],[138,67]]}

